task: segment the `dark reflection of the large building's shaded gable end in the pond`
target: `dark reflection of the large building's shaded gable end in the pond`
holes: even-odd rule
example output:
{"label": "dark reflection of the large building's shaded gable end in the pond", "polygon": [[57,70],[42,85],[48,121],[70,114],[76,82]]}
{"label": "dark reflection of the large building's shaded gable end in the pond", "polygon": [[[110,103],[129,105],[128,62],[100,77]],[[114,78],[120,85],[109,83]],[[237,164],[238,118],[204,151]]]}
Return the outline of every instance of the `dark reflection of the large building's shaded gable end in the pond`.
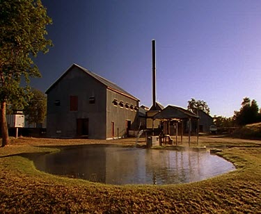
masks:
{"label": "dark reflection of the large building's shaded gable end in the pond", "polygon": [[38,170],[94,182],[106,182],[106,147],[74,147],[38,156]]}

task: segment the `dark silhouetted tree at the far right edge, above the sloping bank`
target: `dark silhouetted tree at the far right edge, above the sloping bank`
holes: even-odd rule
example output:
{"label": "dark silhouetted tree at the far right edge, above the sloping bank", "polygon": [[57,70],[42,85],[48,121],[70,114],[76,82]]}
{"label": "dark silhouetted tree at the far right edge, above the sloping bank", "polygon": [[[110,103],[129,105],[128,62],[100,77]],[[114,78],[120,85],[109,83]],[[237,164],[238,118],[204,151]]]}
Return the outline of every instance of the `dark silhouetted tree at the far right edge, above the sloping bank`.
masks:
{"label": "dark silhouetted tree at the far right edge, above the sloping bank", "polygon": [[260,115],[258,113],[258,104],[255,99],[251,101],[249,97],[245,97],[241,106],[239,111],[234,112],[235,122],[239,126],[258,122]]}

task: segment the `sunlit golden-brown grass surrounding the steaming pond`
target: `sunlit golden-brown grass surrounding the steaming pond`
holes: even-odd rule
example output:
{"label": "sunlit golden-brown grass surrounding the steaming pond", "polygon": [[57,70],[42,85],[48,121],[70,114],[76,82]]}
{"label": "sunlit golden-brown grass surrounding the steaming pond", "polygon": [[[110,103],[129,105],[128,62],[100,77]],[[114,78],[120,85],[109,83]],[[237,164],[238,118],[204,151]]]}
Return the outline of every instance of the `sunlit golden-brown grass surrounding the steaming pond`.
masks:
{"label": "sunlit golden-brown grass surrounding the steaming pond", "polygon": [[[195,145],[196,139],[192,139]],[[261,142],[200,138],[200,146],[223,148],[237,170],[196,183],[168,186],[112,186],[35,170],[17,154],[57,151],[90,143],[134,145],[135,140],[22,138],[0,149],[1,213],[259,213]],[[139,145],[143,145],[140,140]],[[45,147],[42,147],[42,146]],[[47,146],[47,147],[46,147]],[[186,139],[182,146],[186,146]]]}

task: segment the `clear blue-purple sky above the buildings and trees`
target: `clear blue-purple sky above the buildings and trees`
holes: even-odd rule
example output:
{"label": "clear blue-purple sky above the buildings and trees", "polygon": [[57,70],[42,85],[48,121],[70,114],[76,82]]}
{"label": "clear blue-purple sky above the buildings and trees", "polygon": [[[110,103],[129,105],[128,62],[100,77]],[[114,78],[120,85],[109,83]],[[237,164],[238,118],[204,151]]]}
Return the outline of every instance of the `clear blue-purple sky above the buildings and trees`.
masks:
{"label": "clear blue-purple sky above the buildings and trees", "polygon": [[42,0],[54,47],[39,54],[45,92],[72,63],[152,105],[152,39],[157,101],[187,108],[203,99],[230,117],[244,97],[261,106],[261,1]]}

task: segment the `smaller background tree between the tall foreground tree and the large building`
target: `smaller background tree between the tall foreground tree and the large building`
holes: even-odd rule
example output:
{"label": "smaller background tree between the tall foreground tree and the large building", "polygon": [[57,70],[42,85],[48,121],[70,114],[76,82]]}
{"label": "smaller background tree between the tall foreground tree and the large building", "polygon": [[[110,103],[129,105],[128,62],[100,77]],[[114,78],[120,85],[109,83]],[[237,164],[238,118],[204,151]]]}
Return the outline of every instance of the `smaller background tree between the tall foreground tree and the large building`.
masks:
{"label": "smaller background tree between the tall foreground tree and the large building", "polygon": [[47,110],[47,98],[38,89],[31,90],[32,97],[24,107],[24,115],[29,124],[41,123],[45,120]]}

